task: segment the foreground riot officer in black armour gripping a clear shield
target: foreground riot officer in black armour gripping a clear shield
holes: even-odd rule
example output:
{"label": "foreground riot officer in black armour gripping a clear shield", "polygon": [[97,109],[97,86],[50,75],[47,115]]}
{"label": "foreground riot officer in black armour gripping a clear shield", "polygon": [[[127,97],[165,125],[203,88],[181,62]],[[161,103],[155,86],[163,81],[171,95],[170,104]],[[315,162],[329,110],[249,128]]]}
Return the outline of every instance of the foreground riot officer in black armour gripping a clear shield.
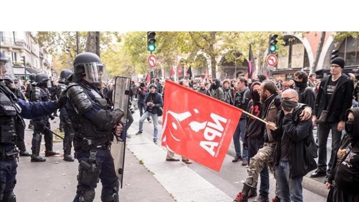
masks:
{"label": "foreground riot officer in black armour gripping a clear shield", "polygon": [[73,83],[65,91],[65,108],[75,131],[74,149],[78,159],[78,185],[74,202],[92,202],[99,178],[101,200],[118,202],[120,181],[109,150],[114,134],[120,136],[124,116],[121,109],[111,110],[99,91],[98,83],[105,77],[100,58],[84,52],[74,60]]}

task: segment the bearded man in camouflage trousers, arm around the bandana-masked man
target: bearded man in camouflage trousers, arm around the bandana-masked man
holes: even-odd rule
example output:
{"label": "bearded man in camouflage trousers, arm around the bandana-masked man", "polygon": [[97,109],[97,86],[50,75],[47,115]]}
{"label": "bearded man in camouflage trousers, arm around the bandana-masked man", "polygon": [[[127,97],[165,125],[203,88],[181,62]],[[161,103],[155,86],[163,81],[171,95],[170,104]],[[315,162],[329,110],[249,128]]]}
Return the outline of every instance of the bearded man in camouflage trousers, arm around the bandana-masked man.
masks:
{"label": "bearded man in camouflage trousers, arm around the bandana-masked man", "polygon": [[[260,86],[260,101],[263,104],[262,108],[262,119],[268,122],[275,121],[275,117],[278,114],[278,111],[281,110],[280,102],[281,98],[279,96],[279,90],[272,81],[264,81]],[[312,110],[310,107],[304,107],[302,113],[300,114],[301,120],[307,120],[311,118]],[[248,176],[244,180],[244,185],[242,191],[239,192],[233,202],[247,202],[248,197],[250,196],[250,190],[257,187],[258,174],[267,167],[267,164],[271,165],[271,170],[274,170],[272,167],[273,162],[273,153],[274,148],[277,143],[277,139],[271,134],[271,130],[265,127],[264,129],[264,146],[260,148],[255,156],[250,159],[250,164],[248,167]],[[261,176],[264,178],[265,176]],[[269,175],[268,179],[269,180]],[[259,195],[255,202],[267,202],[269,201],[268,196]],[[273,199],[273,202],[279,201],[278,197]]]}

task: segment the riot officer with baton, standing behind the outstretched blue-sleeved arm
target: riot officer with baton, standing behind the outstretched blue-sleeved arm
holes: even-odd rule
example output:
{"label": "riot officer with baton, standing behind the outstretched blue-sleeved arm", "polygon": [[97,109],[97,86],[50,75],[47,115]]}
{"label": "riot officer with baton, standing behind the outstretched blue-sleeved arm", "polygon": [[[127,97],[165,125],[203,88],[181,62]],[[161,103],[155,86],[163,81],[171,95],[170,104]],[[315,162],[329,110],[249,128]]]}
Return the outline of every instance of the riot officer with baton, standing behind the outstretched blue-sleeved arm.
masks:
{"label": "riot officer with baton, standing behind the outstretched blue-sleeved arm", "polygon": [[[50,101],[51,100],[51,93],[47,89],[47,87],[51,87],[50,79],[48,75],[45,73],[38,73],[35,77],[36,87],[34,87],[30,93],[30,101],[39,102],[39,101]],[[49,131],[50,129],[50,122],[48,121],[49,117],[53,120],[55,117],[52,115],[49,116],[42,116],[40,118],[33,119],[34,121],[34,133],[32,137],[32,155],[31,161],[32,162],[44,162],[46,161],[45,158],[39,155],[40,153],[40,146],[41,146],[41,139],[42,135],[44,134],[45,139],[45,156],[51,156],[60,154],[58,152],[52,151],[52,133]]]}

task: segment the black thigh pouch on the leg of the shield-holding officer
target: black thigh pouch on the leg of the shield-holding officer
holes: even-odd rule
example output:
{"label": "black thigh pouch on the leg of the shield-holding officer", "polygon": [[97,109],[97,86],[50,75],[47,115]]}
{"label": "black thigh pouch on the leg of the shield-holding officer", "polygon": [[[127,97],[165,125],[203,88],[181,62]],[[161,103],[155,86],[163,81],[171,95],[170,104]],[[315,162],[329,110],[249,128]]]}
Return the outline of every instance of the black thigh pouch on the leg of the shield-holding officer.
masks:
{"label": "black thigh pouch on the leg of the shield-holding officer", "polygon": [[95,164],[81,161],[79,165],[79,174],[77,180],[79,184],[93,186],[99,182],[101,169]]}

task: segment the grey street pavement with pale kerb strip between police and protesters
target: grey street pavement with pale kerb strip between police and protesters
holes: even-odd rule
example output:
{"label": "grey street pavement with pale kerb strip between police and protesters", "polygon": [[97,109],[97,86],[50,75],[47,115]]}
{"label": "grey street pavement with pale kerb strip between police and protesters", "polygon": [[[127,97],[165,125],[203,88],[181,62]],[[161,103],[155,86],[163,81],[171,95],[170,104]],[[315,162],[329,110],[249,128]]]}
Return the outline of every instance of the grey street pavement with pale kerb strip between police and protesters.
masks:
{"label": "grey street pavement with pale kerb strip between police and protesters", "polygon": [[[196,162],[186,165],[181,161],[165,161],[166,150],[159,146],[161,130],[158,145],[152,141],[153,124],[147,120],[144,123],[143,134],[134,135],[138,129],[139,118],[139,112],[136,111],[135,121],[129,130],[132,138],[127,141],[120,201],[232,201],[247,176],[247,169],[241,166],[241,162],[232,163],[233,157],[226,155],[222,169],[218,173]],[[58,121],[56,118],[50,122],[53,131],[58,128]],[[25,122],[28,124],[29,121]],[[162,128],[162,125],[159,125],[159,128]],[[31,138],[32,130],[26,130],[25,143],[29,152]],[[43,150],[45,145],[42,144],[41,147]],[[63,153],[62,142],[54,142],[54,151]],[[176,157],[181,159],[178,155]],[[46,159],[46,162],[30,162],[30,157],[20,157],[15,187],[19,202],[73,200],[78,162],[66,162],[60,156]],[[274,191],[275,179],[270,175],[270,198],[274,197]],[[98,183],[94,201],[101,201],[100,196],[101,183]],[[303,200],[324,202],[326,198],[303,189]]]}

